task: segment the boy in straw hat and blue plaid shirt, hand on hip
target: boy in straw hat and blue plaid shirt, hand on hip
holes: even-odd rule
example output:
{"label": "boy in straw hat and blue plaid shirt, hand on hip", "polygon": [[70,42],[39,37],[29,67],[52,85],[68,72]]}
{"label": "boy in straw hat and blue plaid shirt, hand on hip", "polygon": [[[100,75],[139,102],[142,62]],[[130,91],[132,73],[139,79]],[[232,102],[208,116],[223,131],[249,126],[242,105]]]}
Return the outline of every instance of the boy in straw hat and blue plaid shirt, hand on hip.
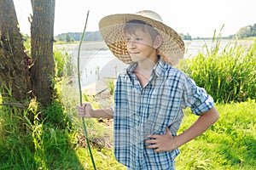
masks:
{"label": "boy in straw hat and blue plaid shirt, hand on hip", "polygon": [[[127,168],[175,169],[178,147],[219,117],[212,97],[173,67],[183,58],[183,40],[148,10],[109,15],[99,26],[108,48],[131,65],[117,79],[113,109],[84,103],[78,105],[79,116],[113,118],[114,154]],[[199,118],[177,135],[186,107]]]}

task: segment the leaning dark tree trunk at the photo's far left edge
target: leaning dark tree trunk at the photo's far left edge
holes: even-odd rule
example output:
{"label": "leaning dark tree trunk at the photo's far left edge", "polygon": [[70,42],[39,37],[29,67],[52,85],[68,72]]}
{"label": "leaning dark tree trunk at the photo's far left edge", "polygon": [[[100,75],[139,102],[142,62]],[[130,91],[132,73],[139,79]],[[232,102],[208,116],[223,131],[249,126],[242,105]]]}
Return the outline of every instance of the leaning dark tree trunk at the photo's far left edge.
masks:
{"label": "leaning dark tree trunk at the photo's far left edge", "polygon": [[13,0],[0,0],[0,93],[3,97],[23,101],[32,90],[29,66],[31,59],[25,47]]}

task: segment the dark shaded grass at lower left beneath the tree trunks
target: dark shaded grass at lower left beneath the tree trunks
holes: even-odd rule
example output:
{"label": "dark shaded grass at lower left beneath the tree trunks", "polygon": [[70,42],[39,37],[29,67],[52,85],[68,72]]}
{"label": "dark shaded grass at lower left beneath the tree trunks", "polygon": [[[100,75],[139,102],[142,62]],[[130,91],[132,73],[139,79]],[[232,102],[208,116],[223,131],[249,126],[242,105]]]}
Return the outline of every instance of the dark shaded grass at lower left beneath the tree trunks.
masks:
{"label": "dark shaded grass at lower left beneath the tree trunks", "polygon": [[36,114],[0,108],[0,170],[82,170],[75,147],[73,127],[60,103]]}

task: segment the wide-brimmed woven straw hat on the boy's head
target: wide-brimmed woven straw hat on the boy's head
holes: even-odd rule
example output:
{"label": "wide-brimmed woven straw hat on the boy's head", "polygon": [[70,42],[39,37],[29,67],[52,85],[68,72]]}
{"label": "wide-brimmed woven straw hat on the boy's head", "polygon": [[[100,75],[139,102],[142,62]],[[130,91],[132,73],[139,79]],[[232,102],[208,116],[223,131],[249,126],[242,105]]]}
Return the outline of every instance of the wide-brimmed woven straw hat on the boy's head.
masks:
{"label": "wide-brimmed woven straw hat on the boy's head", "polygon": [[112,53],[125,64],[132,62],[126,48],[125,23],[130,20],[143,20],[153,26],[163,37],[159,48],[161,58],[171,65],[177,65],[183,58],[183,39],[171,27],[163,24],[159,14],[150,10],[143,10],[136,14],[111,14],[100,20],[99,28],[104,42]]}

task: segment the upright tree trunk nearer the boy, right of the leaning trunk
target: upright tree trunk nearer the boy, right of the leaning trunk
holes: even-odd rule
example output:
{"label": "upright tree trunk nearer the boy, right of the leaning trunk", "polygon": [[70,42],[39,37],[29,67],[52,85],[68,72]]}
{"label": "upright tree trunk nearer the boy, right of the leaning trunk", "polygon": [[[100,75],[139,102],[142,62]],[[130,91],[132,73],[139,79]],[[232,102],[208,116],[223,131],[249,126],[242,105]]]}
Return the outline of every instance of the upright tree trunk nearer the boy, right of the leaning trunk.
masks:
{"label": "upright tree trunk nearer the boy, right of the leaning trunk", "polygon": [[38,101],[49,105],[55,78],[53,57],[55,0],[32,0],[32,86]]}

